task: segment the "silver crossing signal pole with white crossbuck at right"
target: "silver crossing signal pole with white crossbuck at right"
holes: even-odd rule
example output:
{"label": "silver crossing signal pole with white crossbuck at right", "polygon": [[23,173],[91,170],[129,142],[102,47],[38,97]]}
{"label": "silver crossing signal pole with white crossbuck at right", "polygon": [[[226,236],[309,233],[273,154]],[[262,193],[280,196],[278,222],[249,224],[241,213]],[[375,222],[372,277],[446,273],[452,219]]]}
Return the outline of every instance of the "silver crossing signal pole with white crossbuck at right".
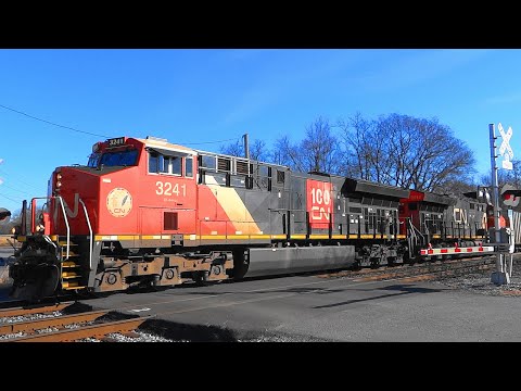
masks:
{"label": "silver crossing signal pole with white crossbuck at right", "polygon": [[[500,124],[499,124],[500,126]],[[501,242],[501,231],[499,226],[499,217],[500,217],[500,209],[499,209],[499,186],[497,184],[497,165],[496,165],[496,133],[494,128],[494,124],[488,124],[490,137],[491,137],[491,166],[492,166],[492,190],[493,190],[493,201],[494,201],[494,242],[496,244],[496,270],[492,273],[491,282],[495,285],[505,285],[510,283],[510,276],[506,272],[505,265],[505,255],[497,250],[499,243]],[[500,128],[501,135],[503,127]],[[511,129],[509,129],[511,136]],[[508,137],[509,139],[510,137]],[[508,139],[506,139],[506,144],[508,148]],[[505,140],[504,140],[505,143]],[[505,149],[507,148],[501,144],[501,150],[504,153]],[[505,164],[504,164],[505,166]]]}

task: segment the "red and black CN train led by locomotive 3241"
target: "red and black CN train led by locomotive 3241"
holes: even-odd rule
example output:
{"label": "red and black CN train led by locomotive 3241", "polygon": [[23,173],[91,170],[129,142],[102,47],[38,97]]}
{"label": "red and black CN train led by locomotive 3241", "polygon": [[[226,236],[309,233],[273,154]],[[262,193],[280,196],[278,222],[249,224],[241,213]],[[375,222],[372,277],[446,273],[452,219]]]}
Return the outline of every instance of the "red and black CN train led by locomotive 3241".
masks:
{"label": "red and black CN train led by locomotive 3241", "polygon": [[449,198],[419,194],[152,137],[109,139],[86,166],[58,167],[48,195],[31,200],[11,295],[378,266],[485,237],[479,200],[459,206],[455,226]]}

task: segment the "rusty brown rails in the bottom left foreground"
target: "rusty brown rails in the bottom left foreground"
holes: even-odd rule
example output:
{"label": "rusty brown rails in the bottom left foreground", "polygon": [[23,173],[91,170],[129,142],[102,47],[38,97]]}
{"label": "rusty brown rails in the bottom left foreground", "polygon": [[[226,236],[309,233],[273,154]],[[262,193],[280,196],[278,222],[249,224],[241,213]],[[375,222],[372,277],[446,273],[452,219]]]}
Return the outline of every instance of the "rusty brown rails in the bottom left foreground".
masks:
{"label": "rusty brown rails in the bottom left foreground", "polygon": [[137,336],[134,331],[150,318],[122,319],[110,311],[85,307],[66,302],[0,310],[0,342],[74,342],[89,338],[111,341],[111,333]]}

